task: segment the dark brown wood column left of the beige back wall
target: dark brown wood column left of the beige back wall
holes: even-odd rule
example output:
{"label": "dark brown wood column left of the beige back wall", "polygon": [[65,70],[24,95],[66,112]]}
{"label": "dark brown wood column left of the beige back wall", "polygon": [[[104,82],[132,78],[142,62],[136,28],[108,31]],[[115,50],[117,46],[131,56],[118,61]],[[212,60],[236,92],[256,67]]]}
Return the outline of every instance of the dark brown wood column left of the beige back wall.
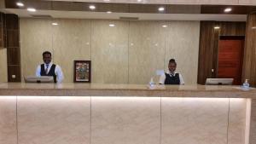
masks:
{"label": "dark brown wood column left of the beige back wall", "polygon": [[6,15],[8,81],[20,82],[20,26],[16,14]]}

